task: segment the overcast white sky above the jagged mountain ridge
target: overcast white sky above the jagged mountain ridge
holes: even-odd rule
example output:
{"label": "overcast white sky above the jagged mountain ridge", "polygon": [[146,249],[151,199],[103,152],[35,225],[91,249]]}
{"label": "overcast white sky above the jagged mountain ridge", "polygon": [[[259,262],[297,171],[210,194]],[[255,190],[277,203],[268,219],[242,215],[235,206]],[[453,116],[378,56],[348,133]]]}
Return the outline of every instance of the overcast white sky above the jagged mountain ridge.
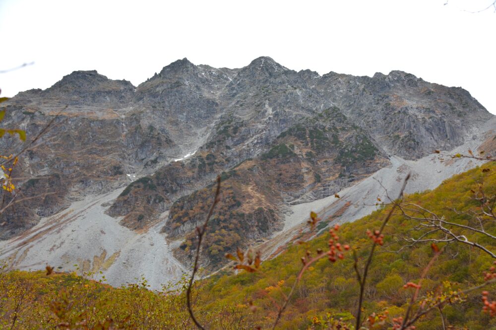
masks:
{"label": "overcast white sky above the jagged mountain ridge", "polygon": [[0,0],[2,96],[74,70],[135,86],[187,57],[237,68],[270,56],[294,70],[402,70],[467,89],[496,114],[493,0]]}

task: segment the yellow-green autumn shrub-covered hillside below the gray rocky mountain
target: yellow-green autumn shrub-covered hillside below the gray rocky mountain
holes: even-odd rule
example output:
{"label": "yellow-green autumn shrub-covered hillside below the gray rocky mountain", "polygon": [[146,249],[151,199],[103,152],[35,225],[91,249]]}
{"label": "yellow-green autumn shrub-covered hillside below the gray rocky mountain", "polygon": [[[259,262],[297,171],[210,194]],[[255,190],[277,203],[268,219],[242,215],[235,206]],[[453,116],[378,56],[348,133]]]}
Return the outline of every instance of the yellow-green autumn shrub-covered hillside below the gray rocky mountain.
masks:
{"label": "yellow-green autumn shrub-covered hillside below the gray rocky mountain", "polygon": [[[492,162],[455,176],[433,191],[405,196],[382,233],[384,244],[375,250],[365,285],[362,316],[375,313],[370,329],[393,329],[393,319],[405,314],[414,285],[424,272],[421,301],[426,297],[435,300],[441,294],[453,297],[453,291],[482,284],[491,277],[496,260],[491,256],[496,251],[496,219],[491,214],[495,195],[496,164]],[[481,209],[481,205],[490,208]],[[326,321],[331,318],[341,319],[354,329],[359,285],[352,251],[358,258],[357,267],[363,269],[372,246],[369,236],[380,228],[390,208],[386,205],[334,232],[350,250],[343,251],[342,260],[322,258],[308,268],[277,329],[346,329],[332,328]],[[466,242],[445,242],[452,236],[445,231],[432,232],[435,227],[429,225],[443,221],[443,228]],[[372,234],[368,236],[367,231]],[[410,238],[418,242],[413,244]],[[192,296],[196,318],[208,329],[271,329],[302,269],[301,258],[307,251],[314,256],[318,249],[328,249],[329,239],[330,234],[325,233],[308,242],[295,242],[278,257],[262,262],[253,273],[224,270],[197,282]],[[435,249],[430,239],[438,240]],[[439,255],[433,258],[437,248]],[[74,274],[1,272],[1,327],[105,329],[112,324],[124,329],[194,329],[186,309],[186,283],[182,281],[174,290],[151,292],[143,280],[113,288]],[[488,291],[489,303],[496,300],[496,284],[491,283],[452,298],[452,304],[443,304],[419,318],[416,329],[443,329],[443,322],[444,329],[496,329],[496,318],[483,312],[483,290]],[[413,312],[419,306],[414,304]]]}

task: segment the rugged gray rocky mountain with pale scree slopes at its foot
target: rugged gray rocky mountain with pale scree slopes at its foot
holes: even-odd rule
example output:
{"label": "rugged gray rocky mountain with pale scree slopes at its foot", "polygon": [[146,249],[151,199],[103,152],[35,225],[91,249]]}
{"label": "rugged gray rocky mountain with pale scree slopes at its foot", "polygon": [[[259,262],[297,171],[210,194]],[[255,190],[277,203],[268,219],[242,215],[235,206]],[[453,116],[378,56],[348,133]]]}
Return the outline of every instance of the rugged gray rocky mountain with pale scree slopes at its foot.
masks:
{"label": "rugged gray rocky mountain with pale scree slopes at its foot", "polygon": [[[118,260],[105,270],[113,283],[132,280],[123,275],[128,268],[150,275],[165,263],[162,278],[180,276],[218,174],[222,198],[202,252],[208,269],[222,266],[233,248],[296,228],[308,216],[301,204],[333,210],[329,216],[340,221],[371,211],[332,204],[332,196],[351,189],[364,204],[360,198],[377,193],[374,176],[388,173],[384,185],[394,189],[398,173],[410,170],[415,189],[433,189],[476,165],[436,163],[434,150],[492,145],[496,126],[461,88],[402,71],[320,76],[266,56],[240,69],[184,58],[137,87],[75,71],[3,104],[5,125],[25,128],[28,137],[62,112],[16,167],[15,176],[29,178],[19,186],[30,199],[1,215],[0,257],[65,270],[105,251]],[[12,140],[0,143],[15,153]]]}

